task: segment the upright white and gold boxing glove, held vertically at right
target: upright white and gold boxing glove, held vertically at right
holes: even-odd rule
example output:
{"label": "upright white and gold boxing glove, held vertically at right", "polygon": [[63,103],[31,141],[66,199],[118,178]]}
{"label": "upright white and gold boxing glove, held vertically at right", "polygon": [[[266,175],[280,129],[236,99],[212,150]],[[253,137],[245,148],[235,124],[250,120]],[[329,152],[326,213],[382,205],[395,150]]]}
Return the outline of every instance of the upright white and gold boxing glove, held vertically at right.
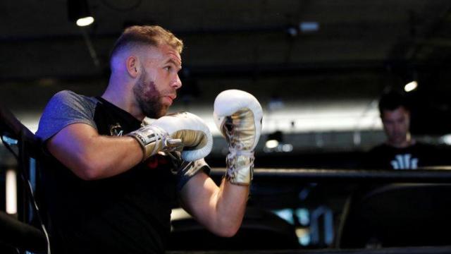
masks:
{"label": "upright white and gold boxing glove, held vertically at right", "polygon": [[249,185],[263,118],[259,101],[248,92],[226,90],[216,97],[213,116],[228,141],[226,179],[230,183]]}

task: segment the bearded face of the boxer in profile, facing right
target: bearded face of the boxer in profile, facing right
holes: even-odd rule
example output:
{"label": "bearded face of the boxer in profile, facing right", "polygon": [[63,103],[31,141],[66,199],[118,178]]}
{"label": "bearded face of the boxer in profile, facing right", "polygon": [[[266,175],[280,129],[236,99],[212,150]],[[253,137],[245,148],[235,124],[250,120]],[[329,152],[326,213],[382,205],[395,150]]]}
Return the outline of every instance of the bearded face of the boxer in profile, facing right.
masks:
{"label": "bearded face of the boxer in profile, facing right", "polygon": [[180,54],[163,45],[152,48],[142,57],[140,77],[133,87],[137,103],[145,116],[159,118],[166,115],[182,86],[178,71],[182,68]]}

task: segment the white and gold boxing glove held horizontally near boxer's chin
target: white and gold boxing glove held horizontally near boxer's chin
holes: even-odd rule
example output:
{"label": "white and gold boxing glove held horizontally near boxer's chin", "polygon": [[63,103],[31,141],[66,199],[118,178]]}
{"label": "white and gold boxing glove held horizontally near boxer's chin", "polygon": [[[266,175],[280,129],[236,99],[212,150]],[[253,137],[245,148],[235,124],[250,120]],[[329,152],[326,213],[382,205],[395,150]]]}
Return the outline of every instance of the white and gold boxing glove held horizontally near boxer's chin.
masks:
{"label": "white and gold boxing glove held horizontally near boxer's chin", "polygon": [[188,112],[162,116],[128,135],[140,143],[143,160],[160,151],[182,151],[182,158],[192,162],[209,155],[213,147],[213,138],[206,123]]}

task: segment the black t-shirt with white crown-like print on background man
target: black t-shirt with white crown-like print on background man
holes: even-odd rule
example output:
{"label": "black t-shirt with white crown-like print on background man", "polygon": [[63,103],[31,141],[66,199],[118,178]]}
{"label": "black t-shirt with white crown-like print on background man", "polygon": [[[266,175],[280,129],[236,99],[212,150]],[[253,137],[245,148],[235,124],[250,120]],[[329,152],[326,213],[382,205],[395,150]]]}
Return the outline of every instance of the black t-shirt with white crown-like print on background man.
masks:
{"label": "black t-shirt with white crown-like print on background man", "polygon": [[447,163],[443,147],[420,142],[404,148],[378,145],[364,158],[364,167],[369,169],[418,169],[444,164]]}

